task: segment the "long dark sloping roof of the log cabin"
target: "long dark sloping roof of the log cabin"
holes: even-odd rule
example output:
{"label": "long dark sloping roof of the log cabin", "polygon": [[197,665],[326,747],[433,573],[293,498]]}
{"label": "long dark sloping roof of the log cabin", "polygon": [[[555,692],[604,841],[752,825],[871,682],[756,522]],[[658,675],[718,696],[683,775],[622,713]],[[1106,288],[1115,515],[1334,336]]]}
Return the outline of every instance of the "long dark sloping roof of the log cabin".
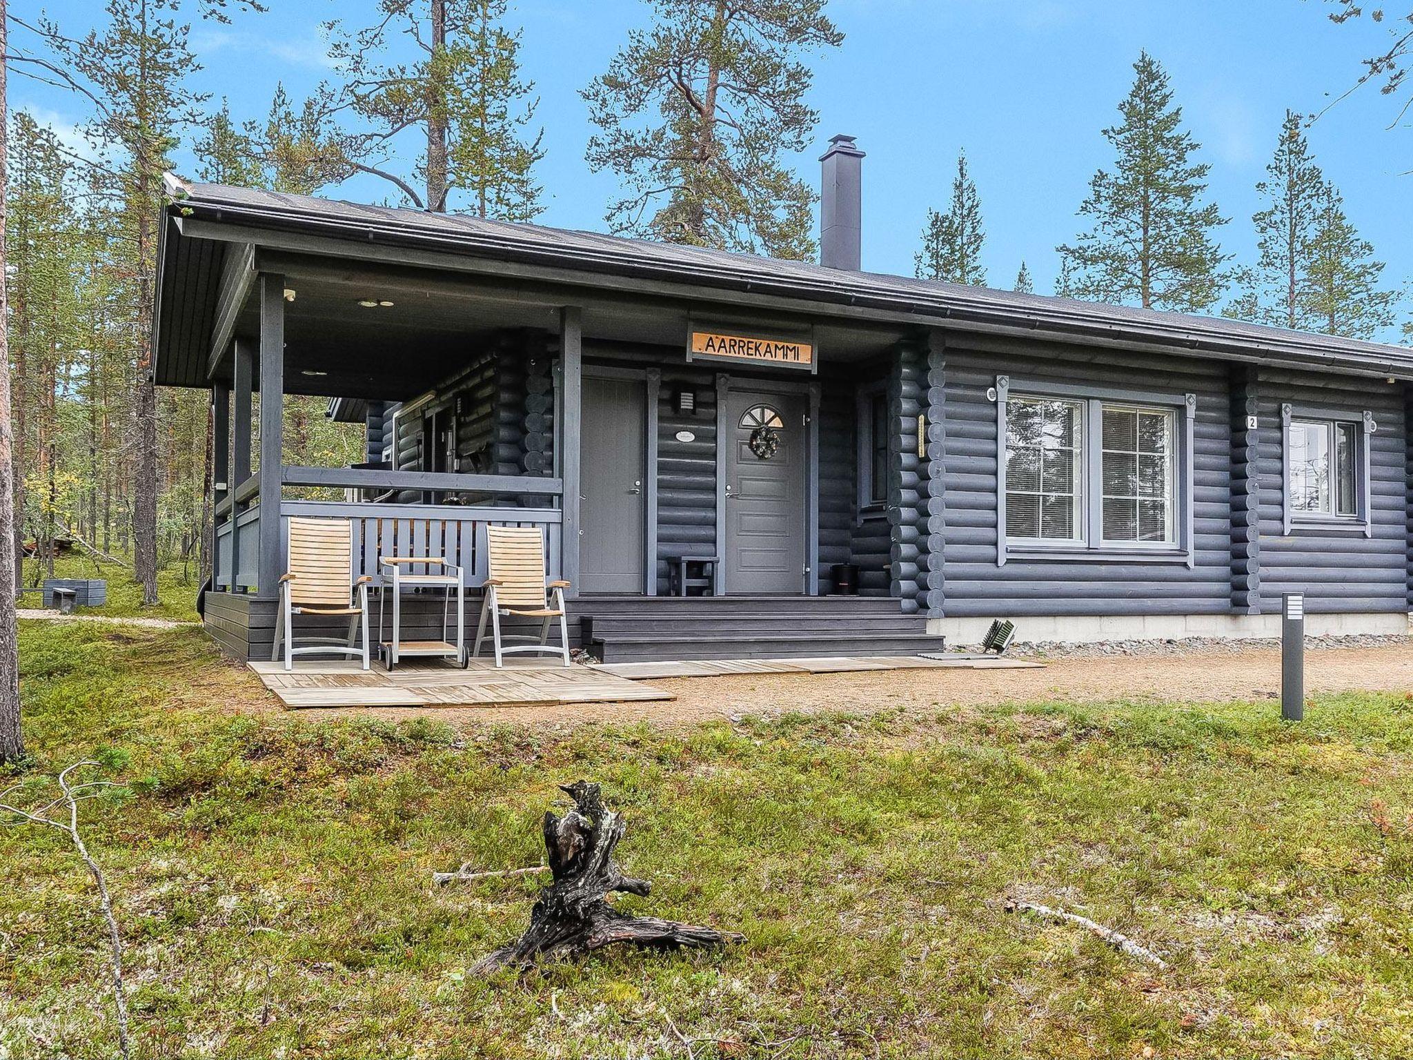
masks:
{"label": "long dark sloping roof of the log cabin", "polygon": [[[1222,317],[1160,312],[904,276],[844,271],[804,261],[653,243],[596,232],[369,206],[311,195],[175,179],[171,187],[178,189],[178,201],[170,208],[174,215],[356,239],[365,246],[373,242],[554,266],[599,277],[644,277],[691,288],[749,290],[807,302],[846,304],[865,311],[873,308],[880,312],[906,312],[916,317],[918,324],[948,321],[952,326],[968,322],[1015,326],[1057,339],[1102,336],[1187,355],[1246,355],[1287,365],[1323,365],[1365,375],[1413,377],[1413,349],[1407,346],[1269,328]],[[168,242],[172,242],[171,236]],[[171,253],[172,247],[168,247],[168,257]],[[158,356],[161,358],[161,351]]]}

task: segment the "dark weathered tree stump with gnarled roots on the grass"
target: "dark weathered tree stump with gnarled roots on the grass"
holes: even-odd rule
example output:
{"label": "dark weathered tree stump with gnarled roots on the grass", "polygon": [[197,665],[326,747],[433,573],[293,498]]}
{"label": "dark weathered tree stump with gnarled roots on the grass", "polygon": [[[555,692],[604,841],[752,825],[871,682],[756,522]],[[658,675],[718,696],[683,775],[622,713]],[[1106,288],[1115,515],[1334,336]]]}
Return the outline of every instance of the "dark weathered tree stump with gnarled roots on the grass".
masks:
{"label": "dark weathered tree stump with gnarled roots on the grass", "polygon": [[482,958],[472,972],[527,968],[541,958],[582,957],[616,943],[654,948],[706,947],[740,941],[735,931],[680,924],[654,916],[627,916],[609,905],[615,892],[646,897],[646,879],[625,876],[613,861],[625,823],[605,808],[599,786],[578,780],[561,789],[574,799],[564,817],[544,815],[544,845],[552,882],[530,912],[519,940]]}

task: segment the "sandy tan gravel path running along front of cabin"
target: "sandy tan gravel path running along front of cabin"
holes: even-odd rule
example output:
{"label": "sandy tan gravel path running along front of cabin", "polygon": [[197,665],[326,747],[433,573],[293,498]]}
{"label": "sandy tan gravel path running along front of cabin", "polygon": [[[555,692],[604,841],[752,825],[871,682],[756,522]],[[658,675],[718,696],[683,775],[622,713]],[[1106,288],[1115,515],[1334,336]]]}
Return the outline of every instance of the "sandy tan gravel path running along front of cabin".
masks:
{"label": "sandy tan gravel path running along front of cabin", "polygon": [[[1022,656],[1023,657],[1023,656]],[[934,705],[976,705],[1061,700],[1094,702],[1130,700],[1279,698],[1280,653],[1272,647],[1191,652],[1164,656],[1070,656],[1044,659],[1043,670],[885,670],[846,674],[733,674],[654,680],[675,700],[596,702],[572,707],[438,707],[455,725],[523,724],[547,728],[608,722],[673,726],[740,714],[868,711]],[[254,674],[254,695],[278,705]],[[1316,649],[1306,656],[1306,690],[1413,691],[1413,642],[1382,647]],[[373,714],[407,718],[410,708],[300,711],[305,718]]]}

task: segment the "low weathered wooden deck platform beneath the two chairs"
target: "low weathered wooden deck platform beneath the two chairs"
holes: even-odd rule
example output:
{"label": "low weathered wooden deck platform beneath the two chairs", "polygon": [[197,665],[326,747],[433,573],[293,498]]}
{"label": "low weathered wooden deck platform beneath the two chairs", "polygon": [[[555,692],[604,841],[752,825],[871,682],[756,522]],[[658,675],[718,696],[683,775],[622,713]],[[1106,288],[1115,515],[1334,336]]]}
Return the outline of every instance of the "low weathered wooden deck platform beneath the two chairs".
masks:
{"label": "low weathered wooden deck platform beneath the two chairs", "polygon": [[544,704],[673,700],[642,681],[555,659],[520,660],[500,670],[475,660],[461,670],[439,660],[398,664],[387,673],[379,663],[363,670],[356,661],[249,663],[266,688],[292,709],[307,707],[530,707]]}

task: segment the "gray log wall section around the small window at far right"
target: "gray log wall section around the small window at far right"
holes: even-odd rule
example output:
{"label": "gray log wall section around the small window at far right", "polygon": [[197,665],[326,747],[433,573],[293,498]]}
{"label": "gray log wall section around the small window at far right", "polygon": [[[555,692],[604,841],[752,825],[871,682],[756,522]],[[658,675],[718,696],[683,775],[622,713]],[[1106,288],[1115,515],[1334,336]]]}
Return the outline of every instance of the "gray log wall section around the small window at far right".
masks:
{"label": "gray log wall section around the small window at far right", "polygon": [[[1283,592],[1303,591],[1313,612],[1393,612],[1407,608],[1407,441],[1399,387],[1376,379],[1263,370],[1260,408],[1260,609],[1280,611]],[[1373,413],[1369,442],[1373,536],[1284,530],[1282,403],[1337,411],[1354,421]]]}

